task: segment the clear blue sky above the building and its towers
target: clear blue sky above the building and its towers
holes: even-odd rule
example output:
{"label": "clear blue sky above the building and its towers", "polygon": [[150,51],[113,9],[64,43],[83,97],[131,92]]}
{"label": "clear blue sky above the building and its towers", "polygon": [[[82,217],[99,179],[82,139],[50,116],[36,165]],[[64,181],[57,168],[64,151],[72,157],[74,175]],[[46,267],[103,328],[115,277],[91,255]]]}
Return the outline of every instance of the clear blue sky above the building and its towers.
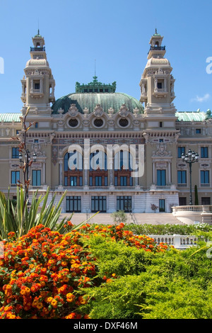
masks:
{"label": "clear blue sky above the building and its towers", "polygon": [[74,92],[76,81],[92,81],[96,63],[99,81],[117,81],[118,92],[139,99],[156,27],[176,79],[177,111],[212,110],[212,74],[206,72],[206,59],[212,57],[211,12],[210,0],[0,0],[0,113],[23,106],[20,79],[38,22],[56,98]]}

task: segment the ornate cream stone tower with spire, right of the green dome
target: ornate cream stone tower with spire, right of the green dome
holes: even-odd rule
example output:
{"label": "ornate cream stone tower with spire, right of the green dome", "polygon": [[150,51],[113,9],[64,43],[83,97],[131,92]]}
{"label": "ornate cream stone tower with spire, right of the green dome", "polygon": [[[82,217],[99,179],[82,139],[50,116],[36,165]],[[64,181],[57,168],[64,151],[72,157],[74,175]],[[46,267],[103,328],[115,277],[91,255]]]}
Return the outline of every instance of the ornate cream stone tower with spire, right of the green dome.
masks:
{"label": "ornate cream stone tower with spire, right of the green dome", "polygon": [[140,101],[144,103],[145,115],[148,117],[160,115],[160,121],[167,117],[175,118],[176,111],[172,103],[175,98],[175,79],[171,74],[170,62],[165,58],[166,51],[162,42],[163,36],[155,29],[149,42],[151,46],[148,61],[139,84],[141,87]]}

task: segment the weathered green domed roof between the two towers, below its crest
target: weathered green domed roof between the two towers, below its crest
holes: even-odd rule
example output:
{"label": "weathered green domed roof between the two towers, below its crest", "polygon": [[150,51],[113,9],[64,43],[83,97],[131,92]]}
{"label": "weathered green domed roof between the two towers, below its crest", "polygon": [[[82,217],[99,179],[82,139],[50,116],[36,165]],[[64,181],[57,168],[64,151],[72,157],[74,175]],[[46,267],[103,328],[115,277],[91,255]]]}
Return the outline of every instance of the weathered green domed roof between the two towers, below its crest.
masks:
{"label": "weathered green domed roof between the two towers, below its crest", "polygon": [[134,97],[123,93],[73,93],[63,96],[52,105],[52,114],[57,114],[59,109],[64,110],[64,113],[69,111],[71,104],[75,104],[80,113],[83,113],[84,108],[88,108],[89,113],[92,113],[97,105],[100,105],[105,113],[108,109],[113,108],[114,113],[119,112],[123,104],[126,105],[129,112],[133,113],[134,108],[139,109],[139,113],[143,113],[142,104]]}

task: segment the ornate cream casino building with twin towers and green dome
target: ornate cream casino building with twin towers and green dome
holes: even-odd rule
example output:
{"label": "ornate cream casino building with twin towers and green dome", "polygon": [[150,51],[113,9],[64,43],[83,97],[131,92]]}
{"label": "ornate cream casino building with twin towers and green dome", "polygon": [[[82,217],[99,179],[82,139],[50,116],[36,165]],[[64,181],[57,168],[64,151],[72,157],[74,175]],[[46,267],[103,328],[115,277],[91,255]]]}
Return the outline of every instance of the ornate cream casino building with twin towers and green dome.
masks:
{"label": "ornate cream casino building with twin towers and green dome", "polygon": [[38,31],[20,81],[23,108],[0,114],[1,191],[10,186],[15,198],[17,181],[23,181],[18,144],[11,137],[23,137],[30,107],[27,123],[33,126],[26,140],[37,159],[30,166],[29,200],[49,187],[49,199],[66,191],[63,212],[170,213],[172,206],[189,204],[189,165],[181,154],[192,149],[199,154],[192,166],[193,191],[196,185],[199,204],[211,204],[211,111],[177,112],[163,36],[155,30],[149,44],[139,101],[117,92],[116,82],[102,84],[96,76],[56,99]]}

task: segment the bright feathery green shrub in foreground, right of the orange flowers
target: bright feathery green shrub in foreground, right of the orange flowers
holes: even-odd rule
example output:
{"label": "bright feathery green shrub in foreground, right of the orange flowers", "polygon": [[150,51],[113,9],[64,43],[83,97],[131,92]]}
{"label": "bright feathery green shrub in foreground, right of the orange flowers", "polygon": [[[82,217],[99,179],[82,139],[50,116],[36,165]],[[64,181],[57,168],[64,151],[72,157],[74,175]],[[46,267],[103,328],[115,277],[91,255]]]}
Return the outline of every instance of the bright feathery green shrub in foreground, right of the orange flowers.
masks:
{"label": "bright feathery green shrub in foreground, right of the orange flowers", "polygon": [[204,242],[184,251],[150,253],[94,236],[89,246],[98,276],[116,274],[109,283],[86,290],[91,318],[212,318],[212,261]]}

